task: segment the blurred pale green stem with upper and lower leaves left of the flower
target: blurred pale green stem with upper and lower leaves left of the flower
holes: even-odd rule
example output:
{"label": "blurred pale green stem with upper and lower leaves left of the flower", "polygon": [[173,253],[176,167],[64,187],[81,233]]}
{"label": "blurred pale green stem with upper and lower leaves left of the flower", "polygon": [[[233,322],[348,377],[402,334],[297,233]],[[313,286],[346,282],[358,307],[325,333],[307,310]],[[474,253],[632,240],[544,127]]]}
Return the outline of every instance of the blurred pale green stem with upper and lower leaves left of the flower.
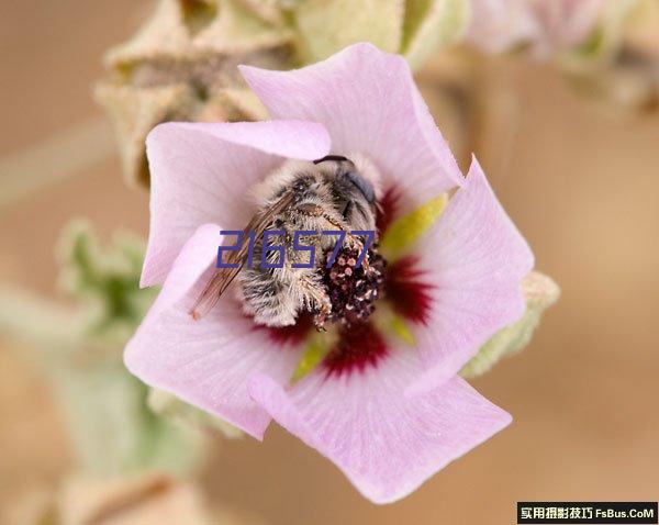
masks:
{"label": "blurred pale green stem with upper and lower leaves left of the flower", "polygon": [[129,235],[102,249],[89,226],[77,223],[60,254],[63,283],[77,308],[0,287],[0,332],[23,344],[22,354],[49,381],[85,474],[187,473],[203,453],[201,434],[154,413],[148,388],[122,362],[125,338],[150,303],[137,282],[143,253]]}

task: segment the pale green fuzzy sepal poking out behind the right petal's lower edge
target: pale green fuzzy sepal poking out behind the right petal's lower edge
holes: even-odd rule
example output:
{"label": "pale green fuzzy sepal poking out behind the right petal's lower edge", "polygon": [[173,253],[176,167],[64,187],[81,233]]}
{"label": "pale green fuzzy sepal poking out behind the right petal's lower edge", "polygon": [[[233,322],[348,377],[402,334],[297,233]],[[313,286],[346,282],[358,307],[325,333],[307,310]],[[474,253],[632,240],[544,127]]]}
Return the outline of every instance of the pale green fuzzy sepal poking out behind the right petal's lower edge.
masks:
{"label": "pale green fuzzy sepal poking out behind the right petal's lower edge", "polygon": [[530,340],[540,322],[543,312],[554,304],[560,294],[556,282],[537,271],[523,281],[526,312],[520,321],[499,331],[479,353],[462,368],[465,378],[480,376],[490,370],[502,357],[522,351]]}

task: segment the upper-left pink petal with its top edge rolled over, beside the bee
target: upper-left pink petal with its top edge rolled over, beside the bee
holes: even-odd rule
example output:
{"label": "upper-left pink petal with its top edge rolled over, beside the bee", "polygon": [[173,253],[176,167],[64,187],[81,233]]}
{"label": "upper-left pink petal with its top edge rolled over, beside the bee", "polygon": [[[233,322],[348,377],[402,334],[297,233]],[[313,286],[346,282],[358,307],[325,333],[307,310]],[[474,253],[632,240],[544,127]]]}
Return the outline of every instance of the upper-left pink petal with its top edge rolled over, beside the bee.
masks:
{"label": "upper-left pink petal with its top edge rolled over, beside the bee", "polygon": [[163,282],[197,227],[243,228],[254,211],[248,189],[284,158],[313,160],[330,136],[313,122],[172,122],[146,139],[152,223],[141,284]]}

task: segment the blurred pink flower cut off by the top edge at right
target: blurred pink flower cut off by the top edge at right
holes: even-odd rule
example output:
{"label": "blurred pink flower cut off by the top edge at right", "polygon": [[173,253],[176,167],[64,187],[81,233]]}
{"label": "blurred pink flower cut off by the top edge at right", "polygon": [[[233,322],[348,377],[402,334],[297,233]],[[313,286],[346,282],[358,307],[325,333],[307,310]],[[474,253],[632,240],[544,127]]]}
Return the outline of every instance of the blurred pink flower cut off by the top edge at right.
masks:
{"label": "blurred pink flower cut off by the top edge at right", "polygon": [[488,53],[530,45],[540,58],[582,44],[606,0],[472,0],[468,41]]}

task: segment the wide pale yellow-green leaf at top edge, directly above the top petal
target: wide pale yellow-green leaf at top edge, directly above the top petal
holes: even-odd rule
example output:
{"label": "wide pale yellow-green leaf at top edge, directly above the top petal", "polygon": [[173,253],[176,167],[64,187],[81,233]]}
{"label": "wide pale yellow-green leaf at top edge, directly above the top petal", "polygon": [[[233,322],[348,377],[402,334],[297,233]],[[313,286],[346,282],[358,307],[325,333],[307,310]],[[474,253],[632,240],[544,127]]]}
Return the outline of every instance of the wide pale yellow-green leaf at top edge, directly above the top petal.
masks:
{"label": "wide pale yellow-green leaf at top edge, directly above the top petal", "polygon": [[[306,0],[293,12],[306,63],[327,58],[358,42],[398,53],[404,0]],[[347,79],[349,80],[349,79]]]}

